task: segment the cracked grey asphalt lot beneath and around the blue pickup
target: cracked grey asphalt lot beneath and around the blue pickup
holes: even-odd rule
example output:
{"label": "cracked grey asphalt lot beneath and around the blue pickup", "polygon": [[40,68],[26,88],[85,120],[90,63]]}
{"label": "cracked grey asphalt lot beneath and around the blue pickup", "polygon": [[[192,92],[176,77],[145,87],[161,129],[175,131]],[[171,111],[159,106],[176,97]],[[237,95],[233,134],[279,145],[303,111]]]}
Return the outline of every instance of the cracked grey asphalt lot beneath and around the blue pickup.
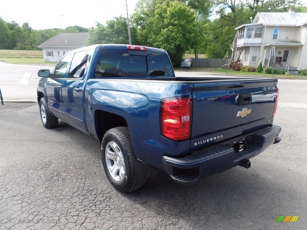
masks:
{"label": "cracked grey asphalt lot beneath and around the blue pickup", "polygon": [[[279,108],[282,142],[192,186],[153,171],[130,194],[113,189],[99,141],[37,103],[0,105],[0,229],[307,229],[306,109]],[[277,223],[278,216],[299,216]]]}

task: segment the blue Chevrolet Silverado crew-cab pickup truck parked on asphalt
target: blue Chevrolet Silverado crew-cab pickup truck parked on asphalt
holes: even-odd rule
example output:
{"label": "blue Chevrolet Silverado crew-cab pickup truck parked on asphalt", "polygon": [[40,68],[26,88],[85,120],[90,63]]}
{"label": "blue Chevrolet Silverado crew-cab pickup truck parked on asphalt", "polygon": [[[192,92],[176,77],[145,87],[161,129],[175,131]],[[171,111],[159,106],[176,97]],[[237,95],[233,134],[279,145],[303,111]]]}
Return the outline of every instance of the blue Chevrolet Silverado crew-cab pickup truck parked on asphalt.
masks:
{"label": "blue Chevrolet Silverado crew-cab pickup truck parked on asphalt", "polygon": [[58,119],[101,143],[108,180],[141,187],[153,168],[182,184],[235,166],[281,141],[277,79],[176,77],[165,50],[93,45],[39,70],[41,121]]}

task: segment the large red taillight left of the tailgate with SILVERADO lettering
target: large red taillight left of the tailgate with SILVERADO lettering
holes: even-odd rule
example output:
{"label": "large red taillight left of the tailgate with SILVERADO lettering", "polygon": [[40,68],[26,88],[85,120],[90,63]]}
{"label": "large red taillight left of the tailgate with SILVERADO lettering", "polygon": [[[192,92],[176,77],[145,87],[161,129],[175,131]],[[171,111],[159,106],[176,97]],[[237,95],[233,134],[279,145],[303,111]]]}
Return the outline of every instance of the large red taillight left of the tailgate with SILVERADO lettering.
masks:
{"label": "large red taillight left of the tailgate with SILVERADO lettering", "polygon": [[162,134],[173,140],[190,138],[191,99],[168,98],[162,100]]}

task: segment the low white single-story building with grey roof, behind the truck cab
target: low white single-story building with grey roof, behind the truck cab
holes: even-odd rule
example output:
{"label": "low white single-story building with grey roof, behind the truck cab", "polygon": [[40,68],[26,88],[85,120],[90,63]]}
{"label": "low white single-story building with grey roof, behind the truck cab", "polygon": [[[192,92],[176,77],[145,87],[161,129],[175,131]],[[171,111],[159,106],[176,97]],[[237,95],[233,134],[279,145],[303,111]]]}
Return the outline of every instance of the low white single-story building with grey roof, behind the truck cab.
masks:
{"label": "low white single-story building with grey roof, behind the truck cab", "polygon": [[58,62],[68,51],[84,47],[88,33],[59,33],[43,42],[38,48],[43,50],[47,62]]}

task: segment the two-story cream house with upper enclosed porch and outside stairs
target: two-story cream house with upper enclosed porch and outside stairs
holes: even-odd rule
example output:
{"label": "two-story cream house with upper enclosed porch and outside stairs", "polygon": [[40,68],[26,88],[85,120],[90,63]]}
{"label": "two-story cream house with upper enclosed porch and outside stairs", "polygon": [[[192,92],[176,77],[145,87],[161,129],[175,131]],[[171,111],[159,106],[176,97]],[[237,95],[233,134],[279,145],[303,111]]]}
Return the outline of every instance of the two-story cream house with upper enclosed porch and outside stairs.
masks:
{"label": "two-story cream house with upper enclosed porch and outside stairs", "polygon": [[298,74],[307,69],[307,13],[259,12],[250,24],[236,29],[230,64],[272,66]]}

